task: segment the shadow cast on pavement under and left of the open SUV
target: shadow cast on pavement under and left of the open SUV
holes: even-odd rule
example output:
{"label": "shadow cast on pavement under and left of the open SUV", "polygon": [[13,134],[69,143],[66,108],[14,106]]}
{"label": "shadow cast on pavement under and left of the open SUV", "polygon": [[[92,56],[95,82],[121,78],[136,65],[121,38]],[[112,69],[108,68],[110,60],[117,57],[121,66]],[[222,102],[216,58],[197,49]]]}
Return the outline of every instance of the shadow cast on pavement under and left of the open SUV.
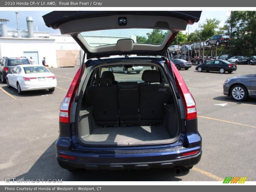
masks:
{"label": "shadow cast on pavement under and left of the open SUV", "polygon": [[148,170],[83,170],[78,173],[62,169],[56,160],[55,142],[40,156],[36,163],[25,174],[16,176],[17,179],[62,180],[62,181],[181,181],[177,178],[188,174],[189,171],[175,174],[171,169]]}

